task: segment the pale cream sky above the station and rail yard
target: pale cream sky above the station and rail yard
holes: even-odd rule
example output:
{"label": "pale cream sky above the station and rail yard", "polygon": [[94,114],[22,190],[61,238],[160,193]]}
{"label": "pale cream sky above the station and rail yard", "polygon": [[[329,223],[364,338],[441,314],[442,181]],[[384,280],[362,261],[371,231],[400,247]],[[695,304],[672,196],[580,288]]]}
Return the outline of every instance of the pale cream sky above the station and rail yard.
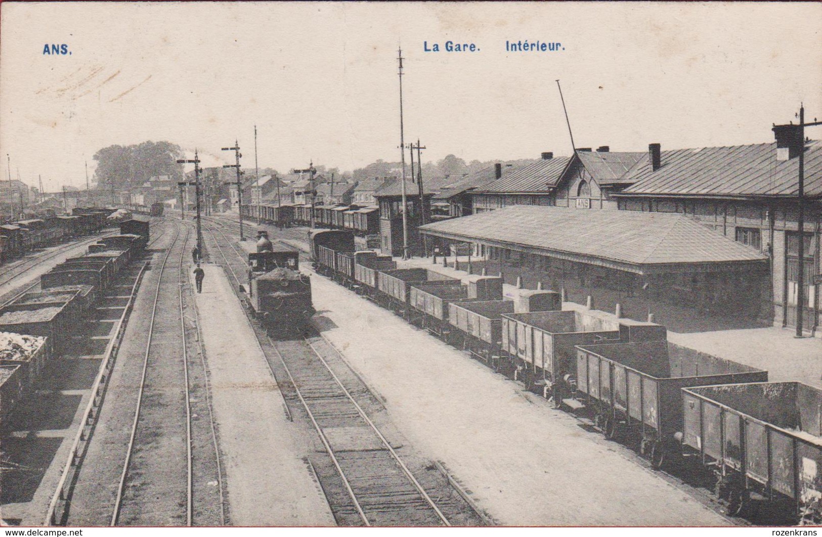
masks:
{"label": "pale cream sky above the station and rail yard", "polygon": [[[561,46],[506,51],[526,39]],[[769,142],[800,103],[822,117],[820,45],[822,4],[801,2],[2,2],[0,155],[46,190],[144,140],[215,166],[236,138],[253,168],[255,125],[261,168],[396,161],[399,46],[425,161],[570,154],[557,79],[576,147]]]}

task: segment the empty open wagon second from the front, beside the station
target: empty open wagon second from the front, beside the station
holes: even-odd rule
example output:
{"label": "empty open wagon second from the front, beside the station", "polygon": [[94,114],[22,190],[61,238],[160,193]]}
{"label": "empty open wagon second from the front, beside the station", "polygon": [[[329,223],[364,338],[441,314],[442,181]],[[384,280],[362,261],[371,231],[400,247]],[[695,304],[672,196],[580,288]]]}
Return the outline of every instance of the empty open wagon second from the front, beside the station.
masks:
{"label": "empty open wagon second from the front, beside the station", "polygon": [[608,438],[639,443],[659,468],[679,454],[682,388],[767,382],[768,372],[671,342],[576,347],[578,401]]}

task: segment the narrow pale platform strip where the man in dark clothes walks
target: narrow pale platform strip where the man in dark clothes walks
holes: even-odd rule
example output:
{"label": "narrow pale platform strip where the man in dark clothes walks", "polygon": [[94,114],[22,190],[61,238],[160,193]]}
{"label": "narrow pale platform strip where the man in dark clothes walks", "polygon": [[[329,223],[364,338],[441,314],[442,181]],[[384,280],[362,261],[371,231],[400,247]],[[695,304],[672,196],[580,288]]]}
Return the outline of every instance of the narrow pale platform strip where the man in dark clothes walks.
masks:
{"label": "narrow pale platform strip where the man in dark clothes walks", "polygon": [[[286,418],[279,392],[229,278],[203,264],[196,294],[211,401],[233,526],[335,526],[303,457],[299,425]],[[192,275],[192,285],[194,285]],[[227,330],[230,327],[230,330]]]}

